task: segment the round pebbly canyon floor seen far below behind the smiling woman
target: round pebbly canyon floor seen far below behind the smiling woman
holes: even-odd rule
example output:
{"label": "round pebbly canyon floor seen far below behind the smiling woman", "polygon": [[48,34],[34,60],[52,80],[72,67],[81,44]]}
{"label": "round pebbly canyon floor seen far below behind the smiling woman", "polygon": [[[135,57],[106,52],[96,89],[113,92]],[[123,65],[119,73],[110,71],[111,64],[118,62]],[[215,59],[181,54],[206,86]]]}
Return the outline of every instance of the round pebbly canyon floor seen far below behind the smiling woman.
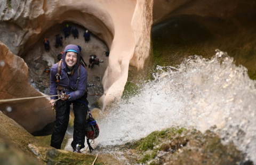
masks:
{"label": "round pebbly canyon floor seen far below behind the smiling woman", "polygon": [[[66,27],[67,24],[78,30],[78,38],[75,39],[70,31],[69,36],[65,39],[63,28]],[[90,55],[96,55],[97,59],[101,61],[99,65],[94,65],[93,68],[87,68],[87,88],[89,90],[87,100],[89,101],[89,105],[96,102],[99,97],[103,95],[101,80],[108,65],[108,57],[105,55],[105,52],[108,51],[109,48],[105,42],[91,31],[89,31],[91,36],[90,41],[89,43],[85,43],[83,35],[86,30],[85,27],[77,23],[66,21],[54,24],[54,26],[47,29],[44,34],[40,35],[38,41],[23,55],[23,59],[29,68],[28,82],[30,85],[40,92],[49,95],[50,75],[45,72],[46,67],[52,67],[53,64],[58,62],[58,54],[62,52],[68,44],[79,45],[82,48],[81,55],[87,65],[89,64]],[[62,46],[55,45],[56,35],[63,37]],[[46,51],[44,48],[44,38],[47,38],[50,42],[50,51]]]}

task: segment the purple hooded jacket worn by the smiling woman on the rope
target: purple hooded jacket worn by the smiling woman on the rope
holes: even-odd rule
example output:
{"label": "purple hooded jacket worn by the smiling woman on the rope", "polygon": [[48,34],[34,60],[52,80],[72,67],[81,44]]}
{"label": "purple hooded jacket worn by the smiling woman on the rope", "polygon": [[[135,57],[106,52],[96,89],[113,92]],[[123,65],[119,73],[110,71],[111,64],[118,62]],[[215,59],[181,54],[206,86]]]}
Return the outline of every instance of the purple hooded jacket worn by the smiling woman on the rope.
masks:
{"label": "purple hooded jacket worn by the smiling woman on the rope", "polygon": [[[66,57],[66,51],[73,49],[78,52],[77,55],[77,62],[74,68],[74,73],[71,75],[69,78],[66,73],[66,62],[65,62],[65,57]],[[61,64],[61,80],[59,80],[59,85],[63,86],[66,90],[65,92],[71,92],[69,93],[70,100],[73,101],[76,100],[77,98],[81,97],[84,95],[86,91],[86,84],[87,84],[87,71],[86,69],[81,65],[80,69],[80,78],[78,81],[78,86],[76,90],[73,90],[76,88],[76,81],[77,81],[77,71],[78,71],[78,64],[79,64],[79,59],[80,59],[80,51],[79,48],[76,45],[68,45],[66,46],[64,53],[62,55],[62,64]],[[58,63],[55,63],[52,68],[51,68],[51,74],[50,74],[50,95],[56,95],[56,88],[57,88],[57,83],[56,83],[56,73],[57,73],[57,68],[58,68]],[[71,88],[71,87],[73,88]],[[51,99],[55,99],[57,97],[51,97]]]}

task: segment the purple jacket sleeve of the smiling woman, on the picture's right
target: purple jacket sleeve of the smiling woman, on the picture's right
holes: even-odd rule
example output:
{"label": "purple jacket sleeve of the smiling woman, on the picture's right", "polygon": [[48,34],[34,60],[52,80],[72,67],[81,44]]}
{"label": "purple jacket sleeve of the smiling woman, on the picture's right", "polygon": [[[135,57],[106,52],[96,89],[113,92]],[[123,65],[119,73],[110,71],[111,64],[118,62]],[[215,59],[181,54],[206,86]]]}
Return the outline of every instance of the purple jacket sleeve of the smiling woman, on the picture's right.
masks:
{"label": "purple jacket sleeve of the smiling woman, on the picture's right", "polygon": [[76,100],[77,98],[80,98],[81,96],[83,96],[86,91],[86,85],[87,85],[87,71],[84,67],[81,66],[80,78],[78,81],[77,90],[69,94],[70,96],[69,101]]}

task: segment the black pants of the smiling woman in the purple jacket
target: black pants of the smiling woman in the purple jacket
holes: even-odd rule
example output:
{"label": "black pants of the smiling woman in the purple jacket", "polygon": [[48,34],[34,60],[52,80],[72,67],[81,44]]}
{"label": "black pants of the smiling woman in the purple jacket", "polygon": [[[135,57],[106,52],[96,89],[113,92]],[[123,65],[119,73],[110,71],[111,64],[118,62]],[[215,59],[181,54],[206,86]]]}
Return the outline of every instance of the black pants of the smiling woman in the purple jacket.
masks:
{"label": "black pants of the smiling woman in the purple jacket", "polygon": [[[74,110],[74,133],[73,142],[71,146],[74,147],[76,144],[81,144],[80,149],[83,149],[85,142],[85,126],[86,126],[86,116],[87,116],[87,106],[73,101]],[[86,100],[86,103],[87,100]],[[56,110],[56,123],[52,133],[51,146],[55,149],[60,149],[61,143],[65,136],[66,130],[68,128],[69,113],[70,113],[70,102],[58,100],[55,105]]]}

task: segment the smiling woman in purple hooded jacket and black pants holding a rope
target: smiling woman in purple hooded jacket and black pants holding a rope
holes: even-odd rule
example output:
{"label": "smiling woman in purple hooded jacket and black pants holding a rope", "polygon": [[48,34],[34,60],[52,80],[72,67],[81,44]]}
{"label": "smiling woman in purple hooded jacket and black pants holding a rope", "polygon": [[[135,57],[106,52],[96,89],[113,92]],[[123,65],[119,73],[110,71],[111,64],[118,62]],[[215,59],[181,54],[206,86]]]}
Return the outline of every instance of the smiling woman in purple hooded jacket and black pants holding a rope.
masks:
{"label": "smiling woman in purple hooded jacket and black pants holding a rope", "polygon": [[[50,104],[55,105],[56,121],[51,137],[51,146],[60,149],[68,128],[70,105],[74,110],[73,152],[80,153],[85,147],[85,126],[87,118],[87,71],[79,65],[80,51],[76,45],[67,45],[63,51],[62,60],[54,64],[50,72],[50,95],[62,94],[61,100],[51,97]],[[59,63],[61,69],[58,69]],[[79,67],[80,66],[80,67]],[[57,72],[60,78],[57,79]],[[78,72],[79,78],[78,78]],[[58,74],[59,74],[58,73]],[[58,89],[58,92],[57,92]]]}

